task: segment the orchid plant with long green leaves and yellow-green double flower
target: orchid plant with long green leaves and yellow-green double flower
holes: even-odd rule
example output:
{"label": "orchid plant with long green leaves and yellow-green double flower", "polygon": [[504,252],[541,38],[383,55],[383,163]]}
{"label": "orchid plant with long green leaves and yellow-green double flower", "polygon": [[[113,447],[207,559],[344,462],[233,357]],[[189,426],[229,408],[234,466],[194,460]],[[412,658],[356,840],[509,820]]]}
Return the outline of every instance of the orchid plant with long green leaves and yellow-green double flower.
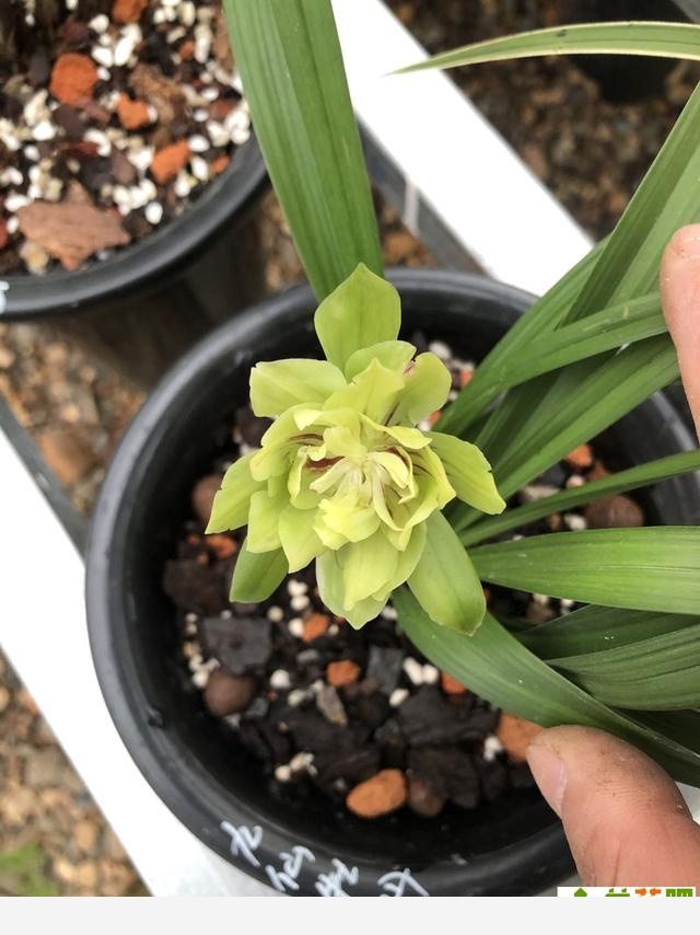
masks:
{"label": "orchid plant with long green leaves and yellow-green double flower", "polygon": [[[700,212],[697,184],[700,89],[688,102],[610,238],[598,244],[511,328],[439,423],[438,428],[443,431],[425,436],[411,427],[423,415],[421,402],[429,407],[441,397],[444,402],[439,361],[422,360],[419,366],[420,358],[413,359],[412,348],[385,345],[384,342],[394,342],[397,336],[396,298],[392,301],[389,289],[382,288],[362,268],[347,278],[358,261],[375,269],[380,267],[376,224],[369,204],[369,185],[362,175],[357,129],[348,113],[348,92],[330,4],[284,4],[269,0],[253,8],[245,0],[226,0],[225,10],[254,118],[256,112],[262,114],[264,101],[271,104],[276,96],[278,100],[276,109],[265,108],[264,123],[257,124],[258,136],[312,285],[319,298],[327,296],[316,313],[316,330],[328,363],[345,368],[349,385],[338,370],[338,383],[332,389],[327,385],[329,392],[318,385],[314,388],[315,368],[323,367],[327,373],[330,370],[327,365],[307,362],[307,380],[295,388],[301,391],[296,399],[292,391],[272,401],[268,393],[269,384],[275,382],[275,365],[253,370],[254,408],[257,403],[261,414],[276,415],[279,419],[264,439],[260,454],[254,455],[249,465],[231,469],[231,482],[224,481],[214,505],[211,529],[253,519],[255,535],[257,505],[264,503],[256,485],[261,487],[267,480],[261,465],[269,459],[266,449],[272,446],[280,468],[284,465],[277,476],[284,477],[289,470],[289,488],[296,484],[308,487],[308,499],[299,503],[298,515],[308,510],[305,521],[310,527],[302,527],[304,520],[295,519],[300,524],[296,534],[300,541],[306,536],[304,559],[318,556],[317,570],[331,609],[335,605],[338,612],[350,614],[351,622],[354,617],[357,624],[363,624],[376,616],[387,597],[394,593],[399,619],[411,638],[442,668],[495,703],[552,724],[561,720],[559,705],[568,696],[574,722],[586,720],[635,740],[655,751],[677,778],[696,782],[698,766],[691,763],[698,757],[697,743],[689,739],[688,748],[681,749],[678,732],[673,729],[673,714],[668,714],[675,708],[696,706],[698,697],[693,690],[686,693],[680,689],[681,683],[697,685],[696,673],[688,668],[686,656],[666,668],[666,662],[652,650],[663,650],[664,644],[673,643],[681,633],[684,640],[695,643],[695,633],[686,627],[696,626],[692,614],[700,598],[700,530],[687,527],[562,532],[526,543],[515,540],[480,545],[472,553],[476,562],[468,558],[456,541],[459,539],[463,545],[490,542],[495,534],[516,530],[524,521],[548,516],[562,505],[585,503],[670,476],[667,462],[657,462],[556,495],[549,501],[545,498],[511,515],[506,511],[499,519],[483,517],[485,512],[501,512],[504,497],[511,497],[576,445],[588,441],[652,393],[678,379],[675,351],[661,313],[656,277],[661,252],[674,230],[697,220]],[[478,43],[404,70],[547,54],[616,51],[698,59],[699,36],[700,30],[691,24],[585,24]],[[308,134],[312,125],[317,131],[324,128],[313,143]],[[351,210],[347,209],[349,205]],[[330,226],[334,236],[328,241],[326,233]],[[385,353],[387,358],[383,357]],[[358,356],[353,359],[353,355]],[[283,361],[277,366],[279,382],[285,383],[281,377],[284,368],[303,365]],[[423,373],[430,376],[422,378]],[[427,389],[434,393],[434,400]],[[363,485],[371,486],[372,482],[366,473],[359,483],[360,475],[358,481],[348,480],[353,454],[335,448],[332,441],[341,432],[330,413],[336,409],[336,418],[343,418],[338,412],[342,408],[343,394],[346,400],[354,401],[350,403],[353,415],[348,413],[348,418],[359,417],[359,422],[352,423],[354,432],[348,425],[342,432],[346,442],[350,445],[352,438],[360,452],[354,458],[368,463],[366,459],[372,458],[370,449],[377,445],[383,452],[392,452],[392,461],[400,464],[401,480],[406,483],[409,477],[415,482],[418,461],[423,486],[430,486],[431,496],[421,497],[418,489],[415,498],[411,498],[413,490],[407,496],[406,487],[397,485],[397,475],[392,475],[388,466],[382,468],[384,483],[377,486],[390,492],[394,515],[382,509],[385,496],[371,499],[369,493],[360,494]],[[411,408],[413,399],[418,405]],[[295,404],[301,408],[296,409]],[[373,405],[374,416],[384,416],[384,438],[377,432],[368,447],[360,425],[363,417],[370,418],[368,409]],[[401,434],[406,429],[411,432],[408,449],[397,446],[395,425]],[[296,440],[308,427],[314,436],[311,446],[308,440]],[[409,454],[411,443],[416,446],[412,449],[416,454]],[[281,451],[276,445],[281,446]],[[430,470],[425,470],[428,459]],[[697,452],[680,455],[675,463],[684,464],[682,472],[700,466]],[[675,470],[672,468],[674,473]],[[238,486],[240,472],[249,472],[247,486]],[[253,495],[257,509],[247,512],[243,503],[252,489],[257,490]],[[268,487],[268,497],[271,489]],[[328,492],[332,496],[326,496]],[[349,497],[348,492],[351,492]],[[226,497],[236,496],[241,500],[236,501],[238,515],[234,520],[226,513]],[[287,498],[288,493],[282,496]],[[440,511],[455,497],[463,503],[452,509],[447,521]],[[354,507],[349,506],[350,500]],[[417,508],[407,507],[407,503],[416,500]],[[290,501],[292,509],[296,506]],[[264,510],[268,509],[269,515],[278,515],[278,507],[266,504]],[[370,521],[364,529],[351,532],[363,510],[371,515]],[[267,543],[256,539],[252,546],[248,541],[244,551],[246,561],[234,576],[234,598],[249,597],[248,576],[262,577],[256,565],[271,561],[270,543],[277,550],[272,554],[277,555],[278,574],[287,573],[290,556],[280,528],[289,522],[282,517],[290,515],[279,513],[277,533]],[[337,538],[334,530],[325,531],[328,517],[336,522]],[[265,519],[257,521],[265,523]],[[418,532],[421,524],[424,532]],[[395,526],[399,529],[394,529]],[[312,543],[308,543],[308,529],[315,536]],[[376,545],[380,542],[382,545]],[[350,562],[347,573],[346,562]],[[354,578],[362,577],[369,568],[375,577],[364,593]],[[445,577],[450,580],[446,587]],[[539,633],[518,638],[487,613],[479,579],[588,607],[576,616],[551,622]],[[399,584],[406,582],[408,590],[395,592]],[[374,603],[363,605],[365,600]],[[635,621],[626,640],[627,649],[616,646],[610,650],[617,654],[619,662],[614,670],[608,668],[609,657],[602,638],[620,614],[608,609],[631,611]],[[586,628],[590,643],[582,654],[575,637],[584,625],[583,617],[591,625]],[[553,632],[563,637],[558,646],[567,656],[564,665],[545,661],[548,634]],[[575,655],[593,658],[575,660],[573,653],[569,656],[564,651],[568,632],[575,634],[572,638]],[[537,654],[539,639],[541,657]],[[640,643],[648,639],[652,643],[645,654]],[[514,684],[508,688],[506,662],[498,654],[503,643],[510,644],[514,651],[511,657]],[[486,662],[489,656],[490,661]],[[631,666],[627,671],[626,658]],[[530,683],[520,678],[523,671],[533,676]],[[615,689],[610,682],[616,684]],[[582,691],[581,683],[588,692]],[[615,707],[608,707],[606,701],[612,697]],[[640,713],[630,716],[618,708]],[[645,722],[646,711],[665,713],[668,736],[663,737],[652,728],[657,723],[656,716]],[[680,732],[687,738],[685,730]]]}

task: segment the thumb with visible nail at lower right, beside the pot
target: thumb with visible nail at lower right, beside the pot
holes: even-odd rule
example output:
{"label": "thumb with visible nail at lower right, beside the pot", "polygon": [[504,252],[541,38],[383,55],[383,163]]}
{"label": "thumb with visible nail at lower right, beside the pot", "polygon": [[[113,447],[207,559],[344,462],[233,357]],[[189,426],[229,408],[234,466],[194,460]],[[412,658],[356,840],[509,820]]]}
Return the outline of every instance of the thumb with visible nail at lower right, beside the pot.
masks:
{"label": "thumb with visible nail at lower right, beside the pot", "polygon": [[700,828],[644,753],[588,727],[552,727],[527,761],[590,886],[700,888]]}

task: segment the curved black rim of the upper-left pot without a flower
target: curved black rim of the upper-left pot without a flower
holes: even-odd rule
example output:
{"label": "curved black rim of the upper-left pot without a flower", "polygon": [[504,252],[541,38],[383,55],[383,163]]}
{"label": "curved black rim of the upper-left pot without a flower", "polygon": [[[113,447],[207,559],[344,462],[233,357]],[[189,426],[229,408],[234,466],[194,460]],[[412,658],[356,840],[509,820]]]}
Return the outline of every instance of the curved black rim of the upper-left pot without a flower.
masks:
{"label": "curved black rim of the upper-left pot without a flower", "polygon": [[69,314],[153,285],[152,280],[199,253],[234,217],[245,212],[267,184],[267,169],[254,135],[234,150],[231,164],[183,215],[143,240],[84,269],[0,277],[0,320],[32,321]]}

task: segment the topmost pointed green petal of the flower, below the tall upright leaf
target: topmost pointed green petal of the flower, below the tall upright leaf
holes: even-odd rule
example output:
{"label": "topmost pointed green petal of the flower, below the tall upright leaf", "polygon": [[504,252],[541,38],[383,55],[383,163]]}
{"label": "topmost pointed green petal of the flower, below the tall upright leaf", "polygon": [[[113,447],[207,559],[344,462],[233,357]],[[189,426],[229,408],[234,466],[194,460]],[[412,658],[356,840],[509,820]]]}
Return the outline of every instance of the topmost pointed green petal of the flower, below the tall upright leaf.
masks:
{"label": "topmost pointed green petal of the flower, below the tall upright leaf", "polygon": [[355,351],[396,340],[400,324],[398,292],[363,263],[324,299],[314,316],[326,357],[341,370]]}

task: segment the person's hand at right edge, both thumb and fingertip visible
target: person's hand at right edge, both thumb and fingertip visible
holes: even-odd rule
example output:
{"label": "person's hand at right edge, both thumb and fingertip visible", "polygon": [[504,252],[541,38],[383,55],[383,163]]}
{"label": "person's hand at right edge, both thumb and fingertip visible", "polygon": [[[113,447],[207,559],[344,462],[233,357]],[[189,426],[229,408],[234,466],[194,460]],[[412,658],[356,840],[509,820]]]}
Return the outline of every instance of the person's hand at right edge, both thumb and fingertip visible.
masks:
{"label": "person's hand at right edge, both thumb and fingertip visible", "polygon": [[[667,245],[661,295],[700,434],[700,224],[681,228]],[[649,757],[602,730],[571,726],[539,734],[527,760],[563,821],[584,884],[700,890],[700,827]]]}

